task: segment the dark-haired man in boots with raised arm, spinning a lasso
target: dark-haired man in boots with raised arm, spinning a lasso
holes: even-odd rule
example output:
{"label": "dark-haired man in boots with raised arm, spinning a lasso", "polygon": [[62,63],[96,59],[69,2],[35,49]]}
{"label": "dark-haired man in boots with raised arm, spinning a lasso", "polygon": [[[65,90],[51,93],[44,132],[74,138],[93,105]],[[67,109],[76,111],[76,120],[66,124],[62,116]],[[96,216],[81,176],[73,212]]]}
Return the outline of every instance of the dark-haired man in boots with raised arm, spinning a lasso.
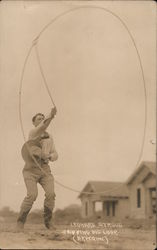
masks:
{"label": "dark-haired man in boots with raised arm, spinning a lasso", "polygon": [[47,127],[56,115],[56,108],[52,108],[48,117],[41,113],[36,114],[32,121],[35,126],[30,131],[29,140],[23,145],[21,153],[25,161],[23,177],[27,188],[17,219],[17,229],[24,228],[27,215],[37,198],[37,183],[45,191],[44,223],[48,229],[53,229],[52,211],[55,202],[54,178],[48,165],[49,160],[56,161],[58,154],[55,150],[52,137],[46,132]]}

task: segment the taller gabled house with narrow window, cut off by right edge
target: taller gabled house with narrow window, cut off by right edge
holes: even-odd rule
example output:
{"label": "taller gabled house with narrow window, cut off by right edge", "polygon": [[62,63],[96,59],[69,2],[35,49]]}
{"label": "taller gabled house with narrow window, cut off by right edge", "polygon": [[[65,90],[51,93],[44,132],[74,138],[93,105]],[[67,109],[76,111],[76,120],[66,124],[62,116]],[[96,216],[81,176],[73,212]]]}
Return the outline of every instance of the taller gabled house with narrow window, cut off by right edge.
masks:
{"label": "taller gabled house with narrow window, cut off by right edge", "polygon": [[156,166],[143,162],[126,182],[129,189],[130,217],[150,218],[156,213]]}

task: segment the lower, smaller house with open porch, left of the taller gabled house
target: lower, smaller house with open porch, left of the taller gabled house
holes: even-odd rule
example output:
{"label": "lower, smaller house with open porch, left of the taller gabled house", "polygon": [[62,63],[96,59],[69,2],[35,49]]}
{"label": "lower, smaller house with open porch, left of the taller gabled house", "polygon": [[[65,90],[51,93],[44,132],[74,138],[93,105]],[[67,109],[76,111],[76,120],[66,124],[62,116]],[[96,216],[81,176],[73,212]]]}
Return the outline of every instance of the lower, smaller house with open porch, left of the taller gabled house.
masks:
{"label": "lower, smaller house with open porch, left of the taller gabled house", "polygon": [[121,182],[89,181],[79,195],[82,217],[96,215],[96,204],[101,203],[102,216],[128,216],[128,188]]}

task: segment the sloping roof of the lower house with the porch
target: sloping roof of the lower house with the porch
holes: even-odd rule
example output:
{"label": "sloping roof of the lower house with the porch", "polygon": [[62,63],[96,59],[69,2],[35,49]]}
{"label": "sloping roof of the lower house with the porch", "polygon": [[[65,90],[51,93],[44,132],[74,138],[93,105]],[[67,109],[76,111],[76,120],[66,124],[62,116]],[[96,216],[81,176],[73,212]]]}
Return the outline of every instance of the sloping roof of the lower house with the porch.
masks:
{"label": "sloping roof of the lower house with the porch", "polygon": [[128,188],[122,182],[89,181],[79,198],[84,194],[98,194],[101,197],[128,197]]}

